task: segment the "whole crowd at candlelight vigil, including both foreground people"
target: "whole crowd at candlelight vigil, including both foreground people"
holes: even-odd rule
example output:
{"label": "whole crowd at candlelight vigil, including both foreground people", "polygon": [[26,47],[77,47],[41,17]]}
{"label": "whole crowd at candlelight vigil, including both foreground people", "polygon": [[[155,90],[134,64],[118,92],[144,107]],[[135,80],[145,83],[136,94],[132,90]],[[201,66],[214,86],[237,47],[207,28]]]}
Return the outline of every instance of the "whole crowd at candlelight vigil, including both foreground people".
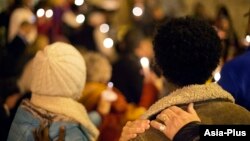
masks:
{"label": "whole crowd at candlelight vigil, including both foreground people", "polygon": [[213,20],[200,3],[175,17],[135,0],[155,11],[118,30],[115,9],[33,2],[0,14],[0,140],[191,141],[201,124],[250,125],[250,11],[242,43],[225,6]]}

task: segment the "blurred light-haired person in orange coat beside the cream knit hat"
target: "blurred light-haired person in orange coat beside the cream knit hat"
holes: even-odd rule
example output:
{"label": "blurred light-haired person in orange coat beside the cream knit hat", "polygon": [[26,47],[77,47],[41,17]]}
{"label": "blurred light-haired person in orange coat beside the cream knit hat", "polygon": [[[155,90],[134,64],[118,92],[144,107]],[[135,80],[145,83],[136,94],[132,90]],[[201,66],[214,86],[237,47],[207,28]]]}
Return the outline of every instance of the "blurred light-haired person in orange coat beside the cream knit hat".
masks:
{"label": "blurred light-haired person in orange coat beside the cream knit hat", "polygon": [[[108,59],[97,52],[82,52],[86,62],[87,81],[79,102],[82,103],[100,130],[99,141],[116,141],[127,120],[145,112],[129,104],[123,94],[110,82],[112,67]],[[101,66],[101,69],[100,69]],[[99,114],[100,118],[92,116]]]}

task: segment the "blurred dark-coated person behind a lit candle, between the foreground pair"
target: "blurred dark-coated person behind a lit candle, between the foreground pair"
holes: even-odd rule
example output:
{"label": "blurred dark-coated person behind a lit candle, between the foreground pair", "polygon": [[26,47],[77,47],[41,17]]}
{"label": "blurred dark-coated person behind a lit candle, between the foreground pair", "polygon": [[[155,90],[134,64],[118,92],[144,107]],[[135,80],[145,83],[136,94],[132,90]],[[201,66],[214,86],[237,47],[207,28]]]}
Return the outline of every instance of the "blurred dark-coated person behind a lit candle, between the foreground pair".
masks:
{"label": "blurred dark-coated person behind a lit candle, between the foreground pair", "polygon": [[[140,64],[140,59],[143,57],[147,57],[148,60],[153,58],[151,40],[146,38],[141,31],[130,29],[119,44],[118,51],[120,58],[113,65],[111,78],[114,86],[121,90],[129,103],[137,105],[141,105],[141,97],[145,92],[150,93],[146,94],[152,96],[146,98],[149,102],[141,106],[151,105],[157,99],[158,89],[154,85],[153,77],[150,78],[153,73],[149,70],[149,62],[146,62],[146,66]],[[148,70],[147,75],[146,70]]]}

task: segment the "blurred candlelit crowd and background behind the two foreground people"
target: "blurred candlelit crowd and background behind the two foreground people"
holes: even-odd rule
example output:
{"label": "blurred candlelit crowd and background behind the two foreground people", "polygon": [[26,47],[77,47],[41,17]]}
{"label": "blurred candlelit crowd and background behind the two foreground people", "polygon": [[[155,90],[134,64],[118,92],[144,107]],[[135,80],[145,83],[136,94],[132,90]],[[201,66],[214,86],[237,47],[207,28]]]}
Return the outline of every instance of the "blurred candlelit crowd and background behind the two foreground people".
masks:
{"label": "blurred candlelit crowd and background behind the two foreground people", "polygon": [[210,80],[216,82],[223,64],[250,44],[249,8],[250,0],[1,0],[0,140],[21,99],[30,97],[30,64],[46,45],[66,42],[82,53],[87,84],[79,102],[100,129],[99,140],[115,141],[126,121],[171,89],[154,64],[157,26],[184,15],[213,25],[223,45]]}

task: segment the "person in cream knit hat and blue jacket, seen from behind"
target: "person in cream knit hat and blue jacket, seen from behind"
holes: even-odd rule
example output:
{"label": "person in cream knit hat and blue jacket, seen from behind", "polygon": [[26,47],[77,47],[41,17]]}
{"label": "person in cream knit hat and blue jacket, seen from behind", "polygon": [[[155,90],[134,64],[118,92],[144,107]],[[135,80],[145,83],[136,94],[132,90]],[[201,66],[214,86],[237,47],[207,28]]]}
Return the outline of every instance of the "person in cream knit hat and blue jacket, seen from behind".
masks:
{"label": "person in cream knit hat and blue jacket, seen from behind", "polygon": [[8,141],[35,140],[34,129],[46,127],[54,140],[62,126],[65,141],[97,140],[98,130],[77,102],[85,78],[85,62],[73,46],[57,42],[39,51],[33,60],[31,100],[19,106]]}

